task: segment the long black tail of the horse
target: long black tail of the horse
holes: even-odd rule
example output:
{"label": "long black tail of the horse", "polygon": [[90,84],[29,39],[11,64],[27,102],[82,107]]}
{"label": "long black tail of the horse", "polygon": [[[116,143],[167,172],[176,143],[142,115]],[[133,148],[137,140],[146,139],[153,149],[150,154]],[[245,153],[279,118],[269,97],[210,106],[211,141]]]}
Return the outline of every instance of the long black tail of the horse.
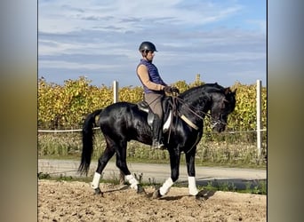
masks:
{"label": "long black tail of the horse", "polygon": [[78,171],[81,174],[88,174],[88,170],[91,163],[92,151],[93,151],[93,123],[95,123],[95,117],[100,115],[102,109],[98,109],[91,114],[87,115],[83,125],[83,153],[81,155],[81,163]]}

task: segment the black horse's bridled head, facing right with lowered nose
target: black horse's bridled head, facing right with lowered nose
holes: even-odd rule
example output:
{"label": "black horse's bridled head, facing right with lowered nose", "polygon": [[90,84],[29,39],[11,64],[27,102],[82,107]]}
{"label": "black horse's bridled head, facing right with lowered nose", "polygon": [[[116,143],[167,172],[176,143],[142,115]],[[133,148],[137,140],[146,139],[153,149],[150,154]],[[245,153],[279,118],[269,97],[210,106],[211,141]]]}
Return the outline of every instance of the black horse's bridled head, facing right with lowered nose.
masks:
{"label": "black horse's bridled head, facing right with lowered nose", "polygon": [[231,91],[230,88],[225,88],[220,93],[212,95],[212,130],[221,132],[225,131],[228,115],[236,107],[236,90]]}

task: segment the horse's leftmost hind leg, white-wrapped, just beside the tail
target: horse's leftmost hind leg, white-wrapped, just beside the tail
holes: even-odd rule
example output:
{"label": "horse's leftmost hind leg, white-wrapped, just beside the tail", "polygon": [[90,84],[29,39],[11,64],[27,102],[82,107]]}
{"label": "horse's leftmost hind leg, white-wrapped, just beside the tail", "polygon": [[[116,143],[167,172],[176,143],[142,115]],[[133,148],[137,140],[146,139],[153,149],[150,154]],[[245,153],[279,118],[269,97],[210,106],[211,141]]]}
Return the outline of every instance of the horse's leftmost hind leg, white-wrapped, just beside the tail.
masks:
{"label": "horse's leftmost hind leg, white-wrapped, just beside the tail", "polygon": [[[107,140],[107,139],[106,139]],[[100,191],[100,178],[101,178],[101,172],[106,167],[109,159],[112,158],[112,156],[115,154],[116,150],[114,147],[110,146],[110,143],[108,143],[107,140],[107,147],[103,154],[100,156],[100,159],[98,160],[97,170],[95,171],[94,178],[91,183],[91,187],[95,190],[95,194],[101,194]]]}

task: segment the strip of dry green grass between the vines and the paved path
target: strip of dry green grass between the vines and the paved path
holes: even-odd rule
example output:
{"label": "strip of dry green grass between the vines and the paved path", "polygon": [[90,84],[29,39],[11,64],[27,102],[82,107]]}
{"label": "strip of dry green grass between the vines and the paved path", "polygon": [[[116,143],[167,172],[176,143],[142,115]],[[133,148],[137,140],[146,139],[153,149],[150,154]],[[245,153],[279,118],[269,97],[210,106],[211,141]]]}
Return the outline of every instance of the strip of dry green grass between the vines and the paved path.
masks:
{"label": "strip of dry green grass between the vines and the paved path", "polygon": [[[38,158],[80,160],[82,152],[80,132],[39,133]],[[96,133],[92,160],[103,153],[106,143],[100,133]],[[258,157],[255,144],[248,139],[231,139],[221,136],[219,140],[203,137],[196,148],[197,166],[220,166],[236,168],[266,169],[267,148],[263,145]],[[114,158],[113,158],[114,159]],[[130,141],[127,149],[128,163],[169,163],[169,153],[151,149],[137,141]],[[185,164],[185,155],[180,156],[180,164]]]}

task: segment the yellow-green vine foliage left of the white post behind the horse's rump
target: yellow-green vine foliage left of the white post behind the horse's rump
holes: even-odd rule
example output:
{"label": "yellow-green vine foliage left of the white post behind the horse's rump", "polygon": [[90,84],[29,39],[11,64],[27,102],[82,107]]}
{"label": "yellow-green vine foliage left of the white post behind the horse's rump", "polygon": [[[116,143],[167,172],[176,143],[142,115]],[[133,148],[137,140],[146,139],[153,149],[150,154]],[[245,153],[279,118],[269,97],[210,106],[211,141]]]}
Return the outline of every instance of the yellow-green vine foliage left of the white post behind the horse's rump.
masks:
{"label": "yellow-green vine foliage left of the white post behind the horse's rump", "polygon": [[85,115],[113,103],[113,90],[105,85],[90,85],[81,76],[63,86],[38,80],[38,124],[44,129],[78,128]]}

